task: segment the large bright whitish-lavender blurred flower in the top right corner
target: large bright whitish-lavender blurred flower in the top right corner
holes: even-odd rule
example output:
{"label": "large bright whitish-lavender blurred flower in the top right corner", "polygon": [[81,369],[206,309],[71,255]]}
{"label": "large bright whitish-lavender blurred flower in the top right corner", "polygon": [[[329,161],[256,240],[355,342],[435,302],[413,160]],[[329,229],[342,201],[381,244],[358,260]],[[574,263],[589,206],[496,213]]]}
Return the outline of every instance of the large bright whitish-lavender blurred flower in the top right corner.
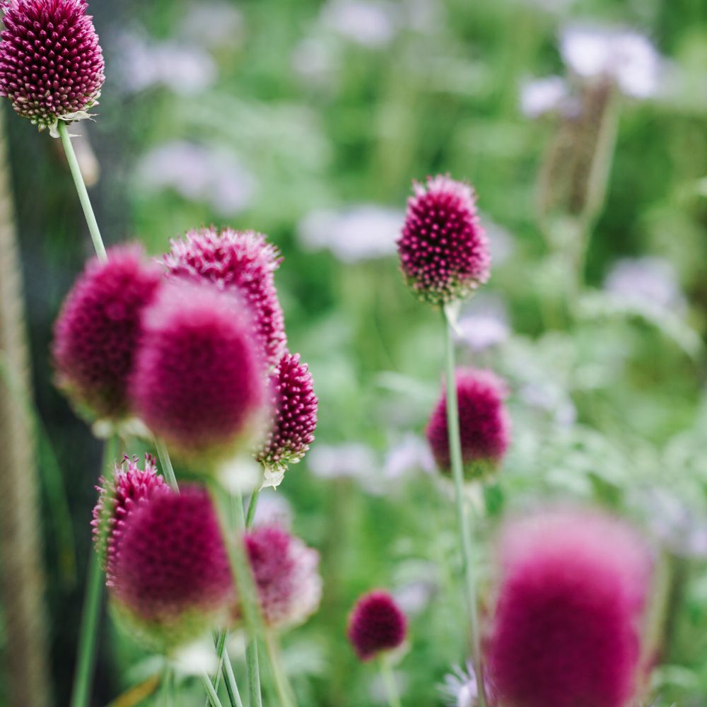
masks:
{"label": "large bright whitish-lavender blurred flower in the top right corner", "polygon": [[636,32],[568,27],[561,33],[560,51],[580,78],[610,78],[633,98],[649,98],[658,88],[660,55]]}

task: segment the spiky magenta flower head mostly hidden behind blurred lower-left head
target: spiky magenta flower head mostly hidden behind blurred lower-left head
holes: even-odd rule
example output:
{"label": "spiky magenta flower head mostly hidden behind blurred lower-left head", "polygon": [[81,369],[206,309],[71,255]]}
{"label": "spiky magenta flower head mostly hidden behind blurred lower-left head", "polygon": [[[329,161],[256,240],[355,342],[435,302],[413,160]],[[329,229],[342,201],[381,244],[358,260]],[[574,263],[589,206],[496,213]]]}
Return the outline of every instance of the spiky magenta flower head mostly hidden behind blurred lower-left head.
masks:
{"label": "spiky magenta flower head mostly hidden behind blurred lower-left head", "polygon": [[128,515],[136,508],[141,498],[149,498],[156,489],[165,486],[163,477],[157,474],[154,457],[145,455],[145,469],[137,465],[137,457],[125,457],[115,466],[115,474],[109,481],[100,479],[97,486],[98,503],[93,508],[93,542],[105,569],[107,585],[112,585],[115,575],[117,539],[124,528]]}

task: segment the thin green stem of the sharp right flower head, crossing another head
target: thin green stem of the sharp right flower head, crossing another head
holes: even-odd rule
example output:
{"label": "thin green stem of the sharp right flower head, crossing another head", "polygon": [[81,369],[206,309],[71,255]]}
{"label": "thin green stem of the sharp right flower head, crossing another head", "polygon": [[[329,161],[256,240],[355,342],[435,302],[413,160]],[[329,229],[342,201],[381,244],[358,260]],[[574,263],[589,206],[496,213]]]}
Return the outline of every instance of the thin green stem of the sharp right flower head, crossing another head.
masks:
{"label": "thin green stem of the sharp right flower head, crossing another head", "polygon": [[459,527],[462,549],[462,564],[464,566],[465,594],[469,612],[472,665],[477,678],[477,685],[479,686],[479,707],[486,707],[484,676],[481,670],[481,641],[479,638],[479,617],[477,614],[477,591],[476,582],[474,581],[474,563],[472,558],[472,530],[469,523],[469,516],[467,515],[467,509],[464,505],[464,472],[462,469],[462,443],[459,436],[459,403],[457,401],[452,315],[447,308],[443,310],[443,324],[445,329],[445,373],[447,380],[449,450],[452,462],[452,478],[454,479],[457,525]]}

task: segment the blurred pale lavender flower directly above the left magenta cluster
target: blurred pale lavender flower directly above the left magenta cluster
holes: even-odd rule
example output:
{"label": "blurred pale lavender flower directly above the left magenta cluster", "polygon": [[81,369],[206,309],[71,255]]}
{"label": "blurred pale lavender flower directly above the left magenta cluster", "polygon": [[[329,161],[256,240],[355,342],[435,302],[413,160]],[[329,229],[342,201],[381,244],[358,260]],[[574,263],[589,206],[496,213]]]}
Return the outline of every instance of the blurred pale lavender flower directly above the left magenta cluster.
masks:
{"label": "blurred pale lavender flower directly above the left magenta cluster", "polygon": [[224,148],[175,140],[152,148],[136,167],[141,189],[174,189],[185,199],[210,204],[220,216],[234,216],[252,204],[256,180]]}

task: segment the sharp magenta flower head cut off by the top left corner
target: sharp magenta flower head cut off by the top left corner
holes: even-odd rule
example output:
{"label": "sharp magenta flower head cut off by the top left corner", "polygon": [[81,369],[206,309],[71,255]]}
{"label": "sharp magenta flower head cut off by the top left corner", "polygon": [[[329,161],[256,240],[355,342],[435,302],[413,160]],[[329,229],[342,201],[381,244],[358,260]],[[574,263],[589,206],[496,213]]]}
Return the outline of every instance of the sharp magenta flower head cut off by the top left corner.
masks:
{"label": "sharp magenta flower head cut off by the top left corner", "polygon": [[103,54],[85,0],[8,0],[0,95],[40,129],[88,117],[103,86]]}

